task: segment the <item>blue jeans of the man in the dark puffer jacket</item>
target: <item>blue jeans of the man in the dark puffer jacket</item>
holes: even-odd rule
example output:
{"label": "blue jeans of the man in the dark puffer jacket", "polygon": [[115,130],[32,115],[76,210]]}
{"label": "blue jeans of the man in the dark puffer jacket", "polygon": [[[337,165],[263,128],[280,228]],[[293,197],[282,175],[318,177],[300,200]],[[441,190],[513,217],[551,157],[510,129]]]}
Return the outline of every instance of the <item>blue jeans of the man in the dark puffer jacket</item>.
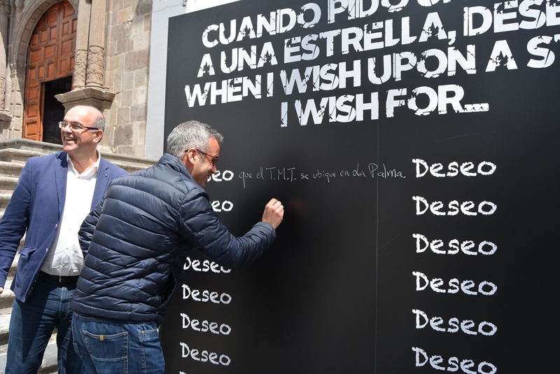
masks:
{"label": "blue jeans of the man in the dark puffer jacket", "polygon": [[163,374],[158,324],[72,317],[74,349],[87,374]]}

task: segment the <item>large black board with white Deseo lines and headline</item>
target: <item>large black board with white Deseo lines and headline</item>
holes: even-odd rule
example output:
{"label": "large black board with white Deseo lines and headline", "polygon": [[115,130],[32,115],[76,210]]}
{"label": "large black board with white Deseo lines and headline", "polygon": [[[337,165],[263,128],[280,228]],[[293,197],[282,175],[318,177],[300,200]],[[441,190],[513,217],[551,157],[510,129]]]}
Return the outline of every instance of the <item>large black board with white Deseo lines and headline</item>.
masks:
{"label": "large black board with white Deseo lines and headline", "polygon": [[[552,373],[560,3],[538,2],[243,0],[172,18],[166,137],[191,119],[223,133],[207,191],[235,235],[272,197],[286,216],[248,268],[189,256],[166,373]],[[258,34],[271,12],[280,27]],[[251,46],[254,69],[232,64]],[[327,109],[302,124],[297,102]]]}

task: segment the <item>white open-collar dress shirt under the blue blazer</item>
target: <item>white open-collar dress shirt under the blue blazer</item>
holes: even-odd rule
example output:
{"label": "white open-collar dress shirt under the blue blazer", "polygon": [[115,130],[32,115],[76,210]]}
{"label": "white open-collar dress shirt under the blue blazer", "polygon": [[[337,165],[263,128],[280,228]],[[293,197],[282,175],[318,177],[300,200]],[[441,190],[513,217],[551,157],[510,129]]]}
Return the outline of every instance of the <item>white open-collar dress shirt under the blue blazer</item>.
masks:
{"label": "white open-collar dress shirt under the blue blazer", "polygon": [[80,275],[83,268],[83,254],[78,242],[78,230],[91,211],[100,159],[98,152],[95,165],[78,174],[69,155],[66,155],[68,177],[62,219],[41,271],[62,277]]}

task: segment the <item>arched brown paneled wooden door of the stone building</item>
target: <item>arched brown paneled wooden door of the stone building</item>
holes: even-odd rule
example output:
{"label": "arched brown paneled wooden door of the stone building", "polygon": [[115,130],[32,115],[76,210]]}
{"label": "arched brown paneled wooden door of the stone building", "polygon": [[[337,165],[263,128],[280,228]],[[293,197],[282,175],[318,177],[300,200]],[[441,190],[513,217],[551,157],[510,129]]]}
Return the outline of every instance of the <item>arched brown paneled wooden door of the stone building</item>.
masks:
{"label": "arched brown paneled wooden door of the stone building", "polygon": [[43,140],[42,83],[72,75],[77,26],[78,15],[73,6],[62,1],[43,14],[31,35],[25,83],[25,139]]}

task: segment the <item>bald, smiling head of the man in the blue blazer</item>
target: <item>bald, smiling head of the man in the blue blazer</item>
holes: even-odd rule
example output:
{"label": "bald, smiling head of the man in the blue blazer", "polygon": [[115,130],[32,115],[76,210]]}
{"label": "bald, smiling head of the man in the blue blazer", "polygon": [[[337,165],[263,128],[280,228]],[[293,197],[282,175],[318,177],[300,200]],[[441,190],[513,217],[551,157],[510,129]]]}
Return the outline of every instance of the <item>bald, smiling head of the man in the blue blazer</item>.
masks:
{"label": "bald, smiling head of the man in the blue blazer", "polygon": [[[95,120],[101,115],[101,112],[91,106],[74,106],[64,116],[64,122],[94,127]],[[97,144],[102,138],[102,130],[72,130],[70,126],[65,126],[60,129],[60,134],[64,151],[70,155],[70,158],[73,160],[97,159]]]}

